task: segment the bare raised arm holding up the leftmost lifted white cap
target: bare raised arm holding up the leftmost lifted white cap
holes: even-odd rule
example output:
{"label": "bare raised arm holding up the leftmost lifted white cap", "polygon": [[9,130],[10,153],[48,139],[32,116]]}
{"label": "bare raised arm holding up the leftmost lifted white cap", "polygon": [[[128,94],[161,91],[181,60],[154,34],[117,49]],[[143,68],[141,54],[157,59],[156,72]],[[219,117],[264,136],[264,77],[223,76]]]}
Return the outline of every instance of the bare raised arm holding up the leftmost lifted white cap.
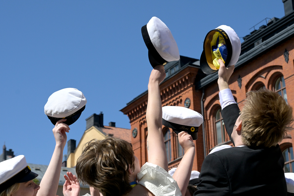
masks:
{"label": "bare raised arm holding up the leftmost lifted white cap", "polygon": [[41,180],[40,190],[37,196],[55,196],[58,188],[63,149],[66,144],[66,132],[69,132],[69,126],[63,122],[66,119],[61,119],[56,122],[55,127],[52,129],[56,145],[51,157],[49,166]]}

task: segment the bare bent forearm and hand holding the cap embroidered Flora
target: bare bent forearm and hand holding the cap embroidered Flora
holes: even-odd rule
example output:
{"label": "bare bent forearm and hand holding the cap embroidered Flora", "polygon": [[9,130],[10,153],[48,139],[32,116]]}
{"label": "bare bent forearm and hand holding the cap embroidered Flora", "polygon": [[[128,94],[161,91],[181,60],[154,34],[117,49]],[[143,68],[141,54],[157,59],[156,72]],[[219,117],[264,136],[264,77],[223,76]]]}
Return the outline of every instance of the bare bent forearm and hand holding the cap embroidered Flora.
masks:
{"label": "bare bent forearm and hand holding the cap embroidered Flora", "polygon": [[193,142],[192,136],[184,131],[178,134],[178,140],[181,147],[183,147],[185,150],[185,154],[175,173],[173,174],[173,179],[177,181],[182,195],[185,195],[193,167],[195,144]]}

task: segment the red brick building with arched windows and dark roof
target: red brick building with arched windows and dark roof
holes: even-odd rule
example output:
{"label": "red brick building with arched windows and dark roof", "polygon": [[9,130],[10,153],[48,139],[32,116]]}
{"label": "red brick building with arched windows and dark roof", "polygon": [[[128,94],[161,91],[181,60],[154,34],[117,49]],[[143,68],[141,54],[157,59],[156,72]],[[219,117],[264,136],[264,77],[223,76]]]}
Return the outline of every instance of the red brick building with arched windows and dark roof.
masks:
{"label": "red brick building with arched windows and dark roof", "polygon": [[[240,109],[246,92],[260,88],[278,92],[289,105],[294,106],[294,1],[283,0],[283,3],[283,18],[272,18],[267,21],[267,25],[260,26],[243,38],[239,61],[229,80],[230,89]],[[199,127],[198,139],[195,141],[193,164],[193,170],[200,171],[204,158],[214,147],[232,145],[220,114],[218,74],[203,74],[198,59],[183,56],[177,62],[166,64],[165,69],[167,76],[160,84],[162,106],[188,107],[203,115],[204,123]],[[121,109],[130,119],[133,136],[131,143],[141,165],[148,161],[147,98],[148,91]],[[183,156],[183,149],[171,129],[163,127],[163,135],[169,168],[176,167]],[[285,172],[294,171],[293,144],[294,132],[290,132],[280,143],[285,157]]]}

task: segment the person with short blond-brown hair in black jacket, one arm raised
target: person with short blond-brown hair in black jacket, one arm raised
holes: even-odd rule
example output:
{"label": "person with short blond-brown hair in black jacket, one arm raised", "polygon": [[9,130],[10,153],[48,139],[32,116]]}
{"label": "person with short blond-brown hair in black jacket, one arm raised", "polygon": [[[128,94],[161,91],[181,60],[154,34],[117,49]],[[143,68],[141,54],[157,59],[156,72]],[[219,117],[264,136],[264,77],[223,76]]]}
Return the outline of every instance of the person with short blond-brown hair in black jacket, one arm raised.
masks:
{"label": "person with short blond-brown hair in black jacket, one arm raised", "polygon": [[293,129],[292,107],[278,93],[262,89],[247,92],[240,112],[228,85],[234,66],[218,62],[221,113],[235,147],[207,155],[194,195],[287,195],[278,143]]}

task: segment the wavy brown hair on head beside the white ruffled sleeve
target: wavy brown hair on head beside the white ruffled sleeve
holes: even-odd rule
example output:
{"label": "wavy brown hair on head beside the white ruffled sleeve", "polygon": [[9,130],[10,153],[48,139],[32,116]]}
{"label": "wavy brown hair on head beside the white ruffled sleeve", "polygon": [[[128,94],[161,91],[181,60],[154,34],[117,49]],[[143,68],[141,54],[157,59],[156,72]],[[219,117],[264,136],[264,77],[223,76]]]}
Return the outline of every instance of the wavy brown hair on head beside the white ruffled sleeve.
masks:
{"label": "wavy brown hair on head beside the white ruffled sleeve", "polygon": [[96,187],[104,196],[124,195],[131,190],[128,170],[134,170],[134,152],[123,139],[108,137],[86,143],[77,160],[78,179]]}

